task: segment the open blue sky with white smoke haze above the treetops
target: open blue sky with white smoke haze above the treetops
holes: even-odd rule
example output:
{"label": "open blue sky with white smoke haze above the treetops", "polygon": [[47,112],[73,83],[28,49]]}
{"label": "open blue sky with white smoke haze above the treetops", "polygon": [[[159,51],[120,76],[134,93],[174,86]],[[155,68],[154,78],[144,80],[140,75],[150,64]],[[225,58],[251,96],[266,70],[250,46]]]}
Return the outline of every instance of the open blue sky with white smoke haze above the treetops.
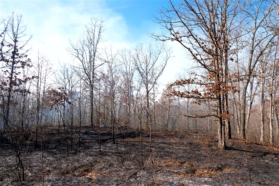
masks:
{"label": "open blue sky with white smoke haze above the treetops", "polygon": [[[104,38],[116,48],[129,48],[138,42],[155,42],[147,36],[149,32],[160,32],[153,15],[158,14],[168,1],[0,1],[0,17],[12,11],[22,13],[32,55],[39,49],[56,64],[72,63],[66,49],[69,41],[75,43],[82,33],[83,25],[91,17],[102,17],[107,27]],[[189,67],[185,51],[174,43],[173,56],[160,78],[162,84],[173,81],[176,73]]]}

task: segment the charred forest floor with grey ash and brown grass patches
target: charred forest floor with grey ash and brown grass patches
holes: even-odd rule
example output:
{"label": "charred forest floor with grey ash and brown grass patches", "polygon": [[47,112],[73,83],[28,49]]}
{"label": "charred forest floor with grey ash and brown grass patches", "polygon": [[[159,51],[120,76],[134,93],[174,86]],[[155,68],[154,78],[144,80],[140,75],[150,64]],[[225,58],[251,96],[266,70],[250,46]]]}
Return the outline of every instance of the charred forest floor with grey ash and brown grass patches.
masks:
{"label": "charred forest floor with grey ash and brown grass patches", "polygon": [[[83,127],[81,147],[67,153],[64,133],[43,130],[44,185],[277,185],[279,149],[242,140],[226,140],[220,151],[214,134],[153,133],[143,138],[141,168],[140,134],[131,132],[112,144],[111,133]],[[0,144],[0,185],[43,185],[41,146],[30,142],[26,158],[22,150],[26,180],[19,181],[15,152]]]}

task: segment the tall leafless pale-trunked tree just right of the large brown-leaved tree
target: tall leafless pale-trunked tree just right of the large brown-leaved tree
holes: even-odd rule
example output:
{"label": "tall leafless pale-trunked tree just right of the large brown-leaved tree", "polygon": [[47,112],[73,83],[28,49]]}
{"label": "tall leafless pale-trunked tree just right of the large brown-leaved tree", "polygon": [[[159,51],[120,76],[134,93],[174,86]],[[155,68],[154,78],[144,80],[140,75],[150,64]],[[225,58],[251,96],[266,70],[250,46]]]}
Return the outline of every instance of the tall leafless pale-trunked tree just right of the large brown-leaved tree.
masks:
{"label": "tall leafless pale-trunked tree just right of the large brown-leaved tree", "polygon": [[[243,87],[240,97],[240,124],[242,139],[246,139],[246,98],[247,88],[253,71],[260,57],[271,47],[274,38],[278,35],[276,19],[276,3],[274,0],[258,0],[257,3],[246,3],[243,11],[246,18],[246,29],[242,37],[247,50],[246,70],[243,78]],[[242,32],[243,32],[242,31]]]}

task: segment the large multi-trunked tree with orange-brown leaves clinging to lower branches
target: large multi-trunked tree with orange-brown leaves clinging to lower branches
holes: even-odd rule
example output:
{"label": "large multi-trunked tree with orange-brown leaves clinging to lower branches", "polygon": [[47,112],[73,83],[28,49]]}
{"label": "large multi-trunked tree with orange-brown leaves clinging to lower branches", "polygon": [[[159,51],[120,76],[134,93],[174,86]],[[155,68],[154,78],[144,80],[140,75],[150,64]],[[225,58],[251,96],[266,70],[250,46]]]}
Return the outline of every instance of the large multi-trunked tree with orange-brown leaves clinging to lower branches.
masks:
{"label": "large multi-trunked tree with orange-brown leaves clinging to lower branches", "polygon": [[[151,34],[161,41],[176,41],[181,44],[197,62],[201,70],[194,72],[201,79],[207,77],[211,82],[198,82],[203,80],[188,79],[176,81],[173,85],[197,84],[202,85],[207,91],[204,96],[199,93],[204,91],[194,90],[192,96],[187,98],[199,101],[214,101],[218,106],[217,116],[219,120],[219,147],[225,148],[225,124],[227,126],[228,138],[230,138],[230,112],[228,110],[228,91],[233,91],[232,81],[236,81],[235,74],[229,74],[229,62],[233,61],[235,49],[232,47],[236,38],[232,38],[239,23],[238,15],[242,12],[242,6],[238,1],[221,0],[194,0],[170,2],[169,8],[160,10],[160,17],[156,22],[167,33]],[[234,78],[232,78],[234,77]],[[195,76],[194,78],[197,78]],[[234,80],[233,80],[234,79]],[[204,90],[205,90],[204,89]],[[194,91],[194,92],[193,92]],[[180,92],[177,92],[179,95]],[[212,95],[215,94],[215,96]],[[187,93],[186,93],[187,94]],[[193,97],[194,96],[194,97]],[[205,116],[205,115],[202,115]],[[206,116],[212,116],[206,114]]]}

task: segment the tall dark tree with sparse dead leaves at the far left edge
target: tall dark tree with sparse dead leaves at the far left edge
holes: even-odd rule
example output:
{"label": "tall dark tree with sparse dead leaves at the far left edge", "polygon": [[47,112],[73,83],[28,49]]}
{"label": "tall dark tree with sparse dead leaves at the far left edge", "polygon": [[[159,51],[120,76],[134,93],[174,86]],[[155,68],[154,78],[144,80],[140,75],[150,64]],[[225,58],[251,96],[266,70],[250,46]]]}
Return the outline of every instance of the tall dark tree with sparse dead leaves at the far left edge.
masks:
{"label": "tall dark tree with sparse dead leaves at the far left edge", "polygon": [[[4,29],[1,31],[1,62],[6,80],[2,82],[7,89],[5,100],[4,128],[9,124],[10,102],[13,87],[17,82],[17,69],[30,66],[31,60],[26,58],[28,50],[23,50],[31,36],[25,34],[26,26],[23,25],[22,15],[12,12],[11,16],[3,19]],[[26,60],[22,60],[26,59]]]}

